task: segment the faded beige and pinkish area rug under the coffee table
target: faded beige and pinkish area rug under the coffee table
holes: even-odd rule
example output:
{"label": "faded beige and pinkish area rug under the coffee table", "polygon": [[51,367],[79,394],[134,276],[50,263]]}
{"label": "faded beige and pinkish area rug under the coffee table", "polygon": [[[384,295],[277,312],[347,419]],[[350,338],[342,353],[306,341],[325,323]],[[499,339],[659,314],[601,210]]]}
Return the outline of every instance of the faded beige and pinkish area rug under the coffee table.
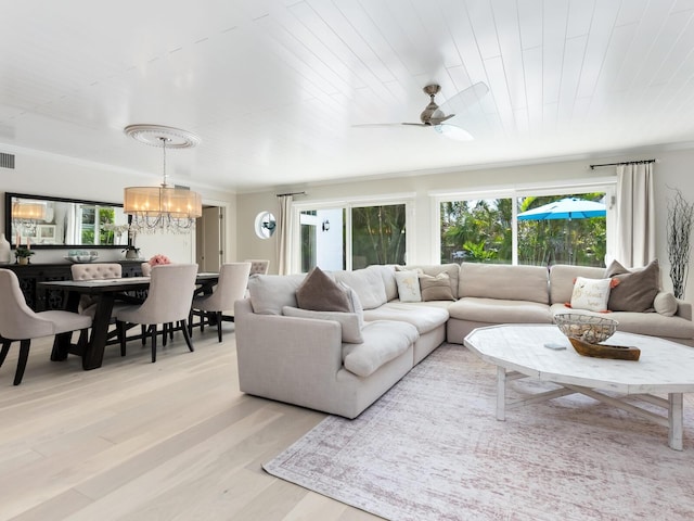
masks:
{"label": "faded beige and pinkish area rug under the coffee table", "polygon": [[359,418],[326,418],[264,468],[398,521],[694,519],[691,397],[678,452],[664,427],[581,395],[497,421],[494,384],[492,366],[442,345]]}

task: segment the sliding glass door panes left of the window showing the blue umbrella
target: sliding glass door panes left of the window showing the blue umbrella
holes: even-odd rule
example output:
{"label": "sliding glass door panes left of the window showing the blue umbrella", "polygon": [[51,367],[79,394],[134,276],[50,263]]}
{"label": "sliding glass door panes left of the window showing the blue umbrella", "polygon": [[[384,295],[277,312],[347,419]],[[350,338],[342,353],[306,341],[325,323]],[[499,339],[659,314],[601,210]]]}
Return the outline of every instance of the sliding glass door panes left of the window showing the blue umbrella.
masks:
{"label": "sliding glass door panes left of the window showing the blue umbrella", "polygon": [[300,247],[296,262],[303,272],[313,266],[339,270],[404,264],[407,203],[355,202],[297,209]]}

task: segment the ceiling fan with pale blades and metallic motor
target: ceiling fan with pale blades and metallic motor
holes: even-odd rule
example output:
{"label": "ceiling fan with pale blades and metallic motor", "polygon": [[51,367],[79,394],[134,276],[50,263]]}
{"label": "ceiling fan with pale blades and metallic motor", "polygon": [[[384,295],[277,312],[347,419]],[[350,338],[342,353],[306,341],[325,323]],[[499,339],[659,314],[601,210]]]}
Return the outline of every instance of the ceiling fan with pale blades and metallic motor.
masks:
{"label": "ceiling fan with pale blades and metallic motor", "polygon": [[479,100],[489,92],[489,87],[483,81],[478,81],[475,85],[461,90],[455,96],[450,98],[440,107],[434,101],[436,94],[439,93],[441,87],[438,85],[427,85],[422,89],[425,94],[429,97],[429,103],[426,105],[422,114],[420,114],[421,123],[369,123],[363,125],[354,125],[355,127],[391,127],[400,125],[409,125],[415,127],[433,127],[439,134],[442,134],[451,139],[460,141],[467,141],[474,139],[465,129],[452,123],[446,123],[449,119],[455,117],[455,112],[446,114],[444,110],[451,109],[459,114],[464,112],[470,106],[479,102]]}

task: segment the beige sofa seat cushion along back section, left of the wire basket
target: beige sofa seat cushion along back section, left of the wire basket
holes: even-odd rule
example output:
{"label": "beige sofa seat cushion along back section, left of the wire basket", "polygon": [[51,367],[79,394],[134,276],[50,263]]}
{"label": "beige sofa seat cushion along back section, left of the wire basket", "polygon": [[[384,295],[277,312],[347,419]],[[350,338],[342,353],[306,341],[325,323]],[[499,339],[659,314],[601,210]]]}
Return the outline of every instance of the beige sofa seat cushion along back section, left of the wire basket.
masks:
{"label": "beige sofa seat cushion along back section, left of the wire basket", "polygon": [[464,296],[448,306],[448,313],[451,318],[483,323],[552,322],[552,314],[547,304],[505,298]]}

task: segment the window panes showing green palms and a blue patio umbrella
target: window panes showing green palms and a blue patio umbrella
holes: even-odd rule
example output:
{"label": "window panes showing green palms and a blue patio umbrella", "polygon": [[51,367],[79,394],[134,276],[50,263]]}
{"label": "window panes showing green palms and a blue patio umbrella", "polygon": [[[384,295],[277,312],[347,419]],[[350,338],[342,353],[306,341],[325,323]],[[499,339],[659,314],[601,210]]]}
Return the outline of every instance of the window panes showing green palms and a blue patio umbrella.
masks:
{"label": "window panes showing green palms and a blue patio umbrella", "polygon": [[[613,186],[592,187],[591,192],[576,187],[569,191],[567,187],[510,190],[496,198],[439,196],[440,262],[604,266],[608,250],[606,202],[612,200]],[[565,214],[524,215],[566,199],[604,211],[574,213],[571,218]]]}

